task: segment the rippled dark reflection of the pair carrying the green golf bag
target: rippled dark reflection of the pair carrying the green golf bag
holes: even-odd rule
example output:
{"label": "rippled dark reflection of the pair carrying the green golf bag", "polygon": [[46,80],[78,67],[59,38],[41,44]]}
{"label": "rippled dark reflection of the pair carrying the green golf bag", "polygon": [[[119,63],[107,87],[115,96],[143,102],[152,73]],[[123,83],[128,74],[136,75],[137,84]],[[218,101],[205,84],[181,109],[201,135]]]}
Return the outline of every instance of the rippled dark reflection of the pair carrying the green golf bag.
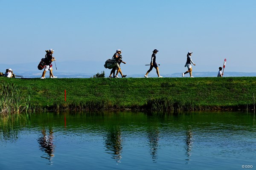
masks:
{"label": "rippled dark reflection of the pair carrying the green golf bag", "polygon": [[119,126],[111,127],[105,137],[105,147],[107,153],[112,155],[112,159],[116,160],[116,163],[121,162],[122,159],[122,139]]}

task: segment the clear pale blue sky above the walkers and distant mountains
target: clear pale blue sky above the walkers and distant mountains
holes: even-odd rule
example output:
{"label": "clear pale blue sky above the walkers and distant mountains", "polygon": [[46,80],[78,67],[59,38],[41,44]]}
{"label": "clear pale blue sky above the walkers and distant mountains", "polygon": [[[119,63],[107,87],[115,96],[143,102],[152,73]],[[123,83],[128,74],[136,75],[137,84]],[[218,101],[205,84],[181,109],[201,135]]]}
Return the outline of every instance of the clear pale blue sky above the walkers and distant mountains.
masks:
{"label": "clear pale blue sky above the walkers and distant mountains", "polygon": [[160,74],[186,71],[188,51],[193,71],[218,72],[227,58],[226,71],[256,72],[255,8],[255,0],[0,0],[1,63],[38,63],[53,48],[58,71],[110,72],[105,60],[122,49],[123,72],[144,75],[156,48]]}

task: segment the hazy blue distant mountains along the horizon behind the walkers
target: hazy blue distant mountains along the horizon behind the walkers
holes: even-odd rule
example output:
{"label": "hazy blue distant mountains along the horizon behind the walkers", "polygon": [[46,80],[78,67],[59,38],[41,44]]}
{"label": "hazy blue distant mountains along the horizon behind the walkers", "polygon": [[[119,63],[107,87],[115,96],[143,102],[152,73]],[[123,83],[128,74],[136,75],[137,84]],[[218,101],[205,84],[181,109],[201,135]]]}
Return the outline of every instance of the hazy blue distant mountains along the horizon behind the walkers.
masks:
{"label": "hazy blue distant mountains along the horizon behind the walkers", "polygon": [[[39,62],[38,62],[39,63]],[[5,72],[6,68],[12,68],[16,75],[23,76],[24,78],[36,78],[41,77],[42,70],[37,69],[38,63],[23,63],[23,64],[0,64],[0,72]],[[88,62],[88,61],[72,61],[72,62],[56,62],[53,63],[53,74],[58,76],[58,78],[90,78],[101,71],[105,71],[105,77],[108,77],[110,73],[109,69],[103,67],[102,62]],[[56,67],[55,67],[56,66]],[[136,67],[136,69],[134,69]],[[162,66],[163,67],[163,66]],[[57,68],[57,70],[56,70]],[[141,67],[140,65],[125,65],[122,68],[123,73],[127,73],[127,77],[144,77],[145,72],[148,67]],[[137,74],[141,73],[141,74]],[[161,73],[162,70],[161,70]],[[218,71],[215,72],[193,72],[194,77],[217,77]],[[49,76],[49,73],[46,74],[46,77]],[[149,77],[157,77],[155,71],[152,71]],[[163,77],[182,77],[180,73],[172,74],[161,74]],[[186,74],[185,77],[189,77],[189,74]],[[247,73],[247,72],[224,72],[224,77],[256,77],[256,72]]]}

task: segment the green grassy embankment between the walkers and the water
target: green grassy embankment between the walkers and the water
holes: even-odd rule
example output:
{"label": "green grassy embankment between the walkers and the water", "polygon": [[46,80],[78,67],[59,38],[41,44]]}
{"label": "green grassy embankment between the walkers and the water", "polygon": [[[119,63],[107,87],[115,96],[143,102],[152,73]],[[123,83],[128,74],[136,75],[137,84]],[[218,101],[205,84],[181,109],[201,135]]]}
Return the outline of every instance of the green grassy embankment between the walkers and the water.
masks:
{"label": "green grassy embankment between the walkers and the water", "polygon": [[[23,99],[19,105],[23,110],[252,110],[256,93],[256,77],[43,80],[0,77],[0,83],[19,87],[18,96]],[[2,91],[3,88],[1,102]]]}

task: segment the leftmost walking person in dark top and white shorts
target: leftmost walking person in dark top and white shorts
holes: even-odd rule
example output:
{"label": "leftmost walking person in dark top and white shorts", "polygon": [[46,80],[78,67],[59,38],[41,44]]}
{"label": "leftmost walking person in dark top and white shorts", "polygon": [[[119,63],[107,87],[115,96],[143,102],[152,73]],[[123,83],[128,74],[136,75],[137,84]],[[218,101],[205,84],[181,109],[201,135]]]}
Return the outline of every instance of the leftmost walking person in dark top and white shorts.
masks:
{"label": "leftmost walking person in dark top and white shorts", "polygon": [[50,71],[50,78],[57,78],[52,74],[52,62],[56,60],[54,57],[52,57],[53,52],[54,52],[53,49],[46,50],[45,67],[44,67],[44,72],[42,74],[41,79],[45,79],[45,73],[48,70]]}

